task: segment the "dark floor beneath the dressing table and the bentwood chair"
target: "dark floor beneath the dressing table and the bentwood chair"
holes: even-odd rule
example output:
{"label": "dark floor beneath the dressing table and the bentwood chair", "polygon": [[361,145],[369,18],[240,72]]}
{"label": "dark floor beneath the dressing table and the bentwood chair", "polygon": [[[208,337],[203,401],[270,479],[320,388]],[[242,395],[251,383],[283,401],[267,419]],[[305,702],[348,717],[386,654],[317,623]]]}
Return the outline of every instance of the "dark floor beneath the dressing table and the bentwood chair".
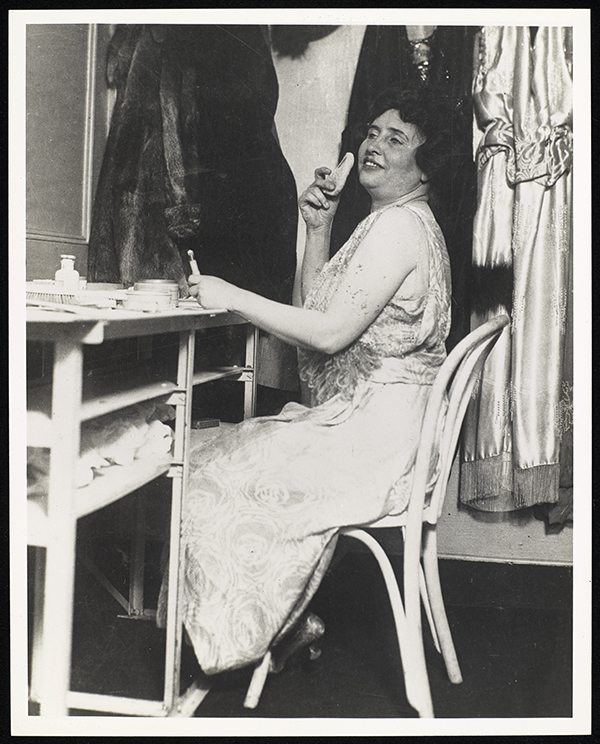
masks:
{"label": "dark floor beneath the dressing table and the bentwood chair", "polygon": [[[118,534],[94,541],[89,528],[82,526],[80,543],[125,591],[127,545],[120,544]],[[160,544],[150,542],[149,605],[157,592],[159,554]],[[401,570],[401,556],[395,564]],[[570,717],[570,569],[442,561],[440,572],[464,681],[448,681],[426,630],[436,717]],[[371,555],[347,553],[326,575],[311,608],[326,626],[318,660],[302,657],[269,675],[254,711],[243,707],[251,670],[223,674],[196,716],[415,716],[405,698],[391,610]],[[120,613],[78,561],[72,689],[160,699],[164,633],[153,622],[120,619]],[[183,687],[198,674],[186,647]]]}

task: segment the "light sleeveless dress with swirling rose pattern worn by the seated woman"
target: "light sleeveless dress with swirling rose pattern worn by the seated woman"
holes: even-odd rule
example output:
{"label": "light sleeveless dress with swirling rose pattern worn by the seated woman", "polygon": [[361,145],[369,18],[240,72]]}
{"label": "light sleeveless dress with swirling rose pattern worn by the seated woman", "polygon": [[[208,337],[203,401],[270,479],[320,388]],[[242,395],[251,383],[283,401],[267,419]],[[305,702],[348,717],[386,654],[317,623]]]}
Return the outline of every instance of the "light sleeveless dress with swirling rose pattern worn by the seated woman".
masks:
{"label": "light sleeveless dress with swirling rose pattern worn by the seated woman", "polygon": [[426,198],[371,213],[320,273],[324,310],[381,214],[409,210],[428,289],[401,287],[350,347],[301,352],[315,405],[244,421],[192,448],[183,514],[183,620],[207,674],[258,660],[298,619],[341,527],[406,508],[430,385],[445,358],[450,270]]}

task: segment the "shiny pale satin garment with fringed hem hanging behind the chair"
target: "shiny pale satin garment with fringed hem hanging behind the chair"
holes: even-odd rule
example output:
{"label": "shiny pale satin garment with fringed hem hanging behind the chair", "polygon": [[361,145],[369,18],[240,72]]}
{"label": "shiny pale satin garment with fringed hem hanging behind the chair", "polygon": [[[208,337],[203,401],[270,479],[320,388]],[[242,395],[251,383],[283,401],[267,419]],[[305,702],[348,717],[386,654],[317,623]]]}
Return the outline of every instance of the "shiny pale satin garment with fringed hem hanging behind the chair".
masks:
{"label": "shiny pale satin garment with fringed hem hanging behind the chair", "polygon": [[512,313],[464,429],[461,500],[485,511],[555,503],[568,485],[571,33],[539,28],[532,44],[526,27],[486,27],[476,43],[472,327]]}

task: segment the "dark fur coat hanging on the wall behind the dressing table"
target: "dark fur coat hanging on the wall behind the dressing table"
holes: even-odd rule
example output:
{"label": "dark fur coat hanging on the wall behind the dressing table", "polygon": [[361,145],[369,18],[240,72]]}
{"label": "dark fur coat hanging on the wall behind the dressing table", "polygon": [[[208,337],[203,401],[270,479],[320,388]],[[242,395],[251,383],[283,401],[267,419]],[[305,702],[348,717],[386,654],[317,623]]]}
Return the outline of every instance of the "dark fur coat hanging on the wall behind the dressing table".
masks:
{"label": "dark fur coat hanging on the wall behind the dressing table", "polygon": [[89,280],[176,279],[185,295],[192,249],[201,272],[291,302],[296,189],[261,28],[118,26],[107,79],[117,96]]}

